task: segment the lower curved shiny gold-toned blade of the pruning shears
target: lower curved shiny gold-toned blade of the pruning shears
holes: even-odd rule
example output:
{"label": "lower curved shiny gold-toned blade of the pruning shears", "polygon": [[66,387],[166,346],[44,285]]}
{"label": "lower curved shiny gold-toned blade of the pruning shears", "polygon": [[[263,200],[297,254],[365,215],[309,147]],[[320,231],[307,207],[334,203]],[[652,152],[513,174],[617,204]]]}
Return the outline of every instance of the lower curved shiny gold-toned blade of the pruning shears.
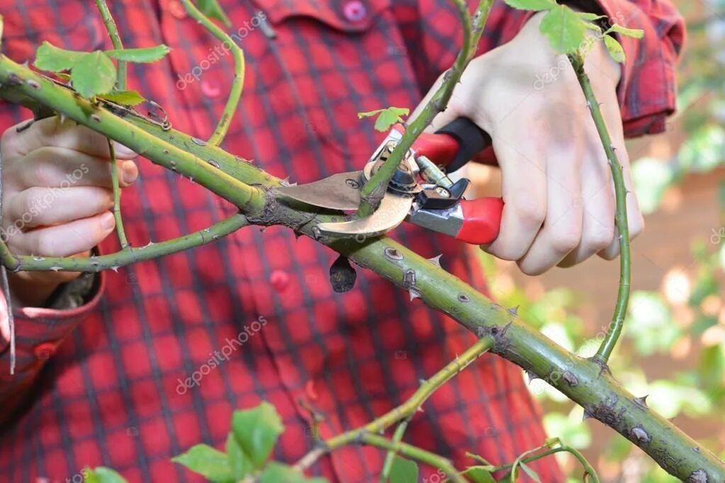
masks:
{"label": "lower curved shiny gold-toned blade of the pruning shears", "polygon": [[321,234],[335,238],[376,237],[401,224],[412,205],[413,196],[387,193],[378,209],[368,217],[349,222],[320,223],[317,227]]}

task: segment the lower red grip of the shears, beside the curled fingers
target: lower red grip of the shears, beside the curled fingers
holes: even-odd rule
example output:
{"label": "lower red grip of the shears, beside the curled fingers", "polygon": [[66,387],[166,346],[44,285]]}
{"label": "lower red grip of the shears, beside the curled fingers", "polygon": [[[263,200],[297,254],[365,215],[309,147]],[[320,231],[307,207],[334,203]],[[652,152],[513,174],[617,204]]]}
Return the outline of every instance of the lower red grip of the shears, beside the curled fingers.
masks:
{"label": "lower red grip of the shears, beside the curled fingers", "polygon": [[455,235],[456,240],[473,245],[486,245],[496,240],[503,212],[501,198],[461,200],[460,207],[463,210],[463,224]]}

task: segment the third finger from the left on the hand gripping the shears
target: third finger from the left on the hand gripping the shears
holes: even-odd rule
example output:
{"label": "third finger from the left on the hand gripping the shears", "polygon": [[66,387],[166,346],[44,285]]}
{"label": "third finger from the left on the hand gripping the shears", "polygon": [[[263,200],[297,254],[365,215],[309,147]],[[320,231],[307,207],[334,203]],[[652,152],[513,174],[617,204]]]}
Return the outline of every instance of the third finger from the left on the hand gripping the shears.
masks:
{"label": "third finger from the left on the hand gripping the shears", "polygon": [[562,267],[589,259],[607,248],[614,239],[612,172],[604,151],[600,146],[597,147],[598,151],[589,151],[581,168],[581,201],[584,208],[581,243],[560,262],[559,266]]}

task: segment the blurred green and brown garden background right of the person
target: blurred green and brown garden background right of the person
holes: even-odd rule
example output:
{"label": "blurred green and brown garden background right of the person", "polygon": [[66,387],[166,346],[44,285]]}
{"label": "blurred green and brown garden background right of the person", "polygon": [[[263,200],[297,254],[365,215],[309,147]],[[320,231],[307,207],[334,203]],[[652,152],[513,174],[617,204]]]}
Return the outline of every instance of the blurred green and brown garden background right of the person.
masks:
{"label": "blurred green and brown garden background right of the person", "polygon": [[[647,228],[633,246],[624,338],[610,364],[634,395],[725,459],[725,0],[677,0],[688,42],[679,112],[667,132],[633,140],[629,154]],[[497,175],[471,177],[496,190]],[[489,186],[486,187],[485,185]],[[527,277],[481,252],[492,294],[580,356],[596,352],[616,301],[619,264],[601,259]],[[589,419],[541,380],[529,385],[552,437],[579,448],[602,482],[675,482],[638,448]],[[560,463],[581,482],[581,468]]]}

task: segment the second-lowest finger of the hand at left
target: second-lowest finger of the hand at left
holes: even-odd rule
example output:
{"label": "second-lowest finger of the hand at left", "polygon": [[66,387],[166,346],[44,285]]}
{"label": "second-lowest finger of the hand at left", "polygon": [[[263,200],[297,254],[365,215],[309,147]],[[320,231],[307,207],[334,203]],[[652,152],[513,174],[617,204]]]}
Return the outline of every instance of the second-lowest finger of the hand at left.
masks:
{"label": "second-lowest finger of the hand at left", "polygon": [[28,188],[9,199],[8,221],[21,231],[34,227],[71,222],[91,217],[113,206],[113,194],[106,188]]}

